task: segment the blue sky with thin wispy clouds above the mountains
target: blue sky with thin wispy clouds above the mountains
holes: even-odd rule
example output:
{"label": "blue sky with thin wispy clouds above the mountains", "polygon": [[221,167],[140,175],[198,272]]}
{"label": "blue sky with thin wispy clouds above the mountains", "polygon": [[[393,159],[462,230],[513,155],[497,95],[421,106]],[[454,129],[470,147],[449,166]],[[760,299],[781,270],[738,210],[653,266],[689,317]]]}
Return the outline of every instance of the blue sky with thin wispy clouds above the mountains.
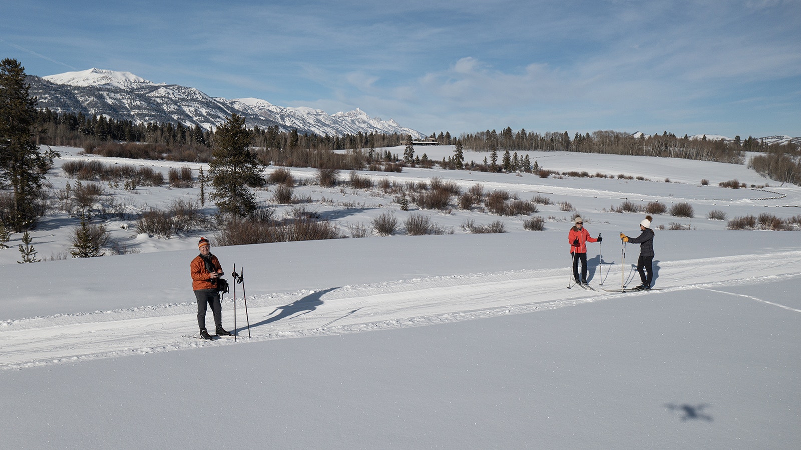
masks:
{"label": "blue sky with thin wispy clouds above the mountains", "polygon": [[801,136],[801,1],[3,2],[0,57],[425,134]]}

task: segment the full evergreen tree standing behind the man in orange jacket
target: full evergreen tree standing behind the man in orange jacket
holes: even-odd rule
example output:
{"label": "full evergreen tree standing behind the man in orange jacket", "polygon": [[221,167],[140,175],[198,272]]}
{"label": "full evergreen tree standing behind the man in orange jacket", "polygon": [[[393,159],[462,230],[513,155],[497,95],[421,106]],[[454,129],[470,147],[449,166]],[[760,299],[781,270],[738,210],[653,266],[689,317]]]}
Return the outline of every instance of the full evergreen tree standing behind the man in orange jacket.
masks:
{"label": "full evergreen tree standing behind the man in orange jacket", "polygon": [[243,218],[256,211],[256,195],[248,187],[263,186],[265,180],[264,164],[250,151],[252,139],[239,115],[231,115],[215,131],[209,163],[215,190],[211,199],[223,215]]}

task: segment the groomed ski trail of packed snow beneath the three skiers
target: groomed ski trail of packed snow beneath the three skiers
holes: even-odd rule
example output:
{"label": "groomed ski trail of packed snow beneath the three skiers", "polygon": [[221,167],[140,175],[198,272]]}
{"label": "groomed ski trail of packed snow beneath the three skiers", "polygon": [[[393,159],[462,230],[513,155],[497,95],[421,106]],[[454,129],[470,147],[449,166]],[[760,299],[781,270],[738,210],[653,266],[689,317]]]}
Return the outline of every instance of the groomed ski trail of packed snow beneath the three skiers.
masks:
{"label": "groomed ski trail of packed snow beneath the three skiers", "polygon": [[[607,292],[566,289],[565,268],[436,276],[384,283],[331,287],[320,291],[248,296],[248,319],[238,295],[238,340],[191,339],[197,332],[194,302],[168,303],[115,311],[53,315],[0,322],[0,369],[29,368],[231,345],[292,337],[339,335],[361,331],[417,327],[507,314],[575,306],[630,295],[715,290],[760,280],[801,276],[801,251],[736,258],[657,262],[660,291]],[[618,287],[620,266],[596,274],[605,287]],[[638,275],[626,266],[626,282]],[[725,292],[732,294],[731,292]],[[234,323],[233,292],[223,299],[223,325]],[[737,295],[786,311],[801,312],[768,299]],[[213,325],[211,314],[207,324]]]}

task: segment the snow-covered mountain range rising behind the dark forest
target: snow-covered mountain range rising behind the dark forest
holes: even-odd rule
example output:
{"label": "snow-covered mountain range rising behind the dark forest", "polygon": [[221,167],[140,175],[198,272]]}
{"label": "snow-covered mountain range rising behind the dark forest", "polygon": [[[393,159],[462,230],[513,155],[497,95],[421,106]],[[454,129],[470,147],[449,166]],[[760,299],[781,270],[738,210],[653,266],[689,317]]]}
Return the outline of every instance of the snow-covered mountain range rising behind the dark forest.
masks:
{"label": "snow-covered mountain range rising behind the dark forest", "polygon": [[28,77],[38,107],[55,112],[105,115],[135,123],[178,122],[211,130],[231,114],[242,115],[249,127],[278,126],[282,131],[344,135],[398,133],[421,139],[420,131],[394,120],[371,118],[360,109],[328,115],[308,107],[276,106],[260,98],[212,98],[194,87],[154,83],[130,72],[90,69],[46,77]]}

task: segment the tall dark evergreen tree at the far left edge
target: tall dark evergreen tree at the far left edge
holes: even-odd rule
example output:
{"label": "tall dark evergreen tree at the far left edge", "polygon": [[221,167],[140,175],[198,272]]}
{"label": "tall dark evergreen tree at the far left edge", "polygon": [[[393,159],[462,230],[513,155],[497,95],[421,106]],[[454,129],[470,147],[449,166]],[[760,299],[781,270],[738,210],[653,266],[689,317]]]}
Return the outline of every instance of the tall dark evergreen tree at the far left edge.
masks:
{"label": "tall dark evergreen tree at the far left edge", "polygon": [[53,164],[54,151],[39,151],[34,143],[36,98],[30,98],[25,68],[15,59],[0,62],[0,187],[14,191],[7,224],[14,231],[33,227],[38,218],[37,200]]}

